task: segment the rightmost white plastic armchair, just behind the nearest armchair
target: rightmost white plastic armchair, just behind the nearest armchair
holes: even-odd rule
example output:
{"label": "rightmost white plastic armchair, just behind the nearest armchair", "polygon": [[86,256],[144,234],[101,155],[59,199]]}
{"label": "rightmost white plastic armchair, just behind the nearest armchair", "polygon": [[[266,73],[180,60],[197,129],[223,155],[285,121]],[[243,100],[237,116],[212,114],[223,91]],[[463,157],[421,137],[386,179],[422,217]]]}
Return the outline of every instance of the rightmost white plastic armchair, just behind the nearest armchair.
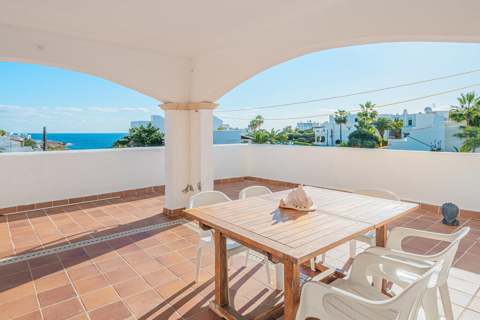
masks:
{"label": "rightmost white plastic armchair, just behind the nearest armchair", "polygon": [[[365,250],[368,253],[374,253],[383,256],[391,256],[403,261],[415,262],[419,265],[431,265],[435,261],[444,260],[444,264],[440,271],[435,272],[432,281],[429,284],[429,288],[425,292],[423,297],[422,306],[425,311],[425,317],[427,320],[438,320],[438,303],[437,303],[437,288],[440,291],[440,297],[442,299],[442,305],[445,311],[445,318],[447,320],[453,320],[453,312],[451,308],[450,293],[448,292],[448,273],[455,257],[455,253],[458,248],[460,240],[470,230],[469,227],[462,228],[461,230],[452,234],[434,233],[428,231],[414,230],[408,228],[395,228],[393,229],[386,241],[385,248],[370,247]],[[406,253],[402,250],[402,240],[405,237],[417,236],[428,239],[435,239],[440,241],[447,241],[450,244],[443,251],[435,255],[423,256],[411,253]],[[379,267],[376,266],[369,270],[369,275],[373,276],[374,286],[379,289],[382,283],[382,279],[395,282],[401,288],[409,286],[418,277],[418,274],[405,271],[399,267]]]}

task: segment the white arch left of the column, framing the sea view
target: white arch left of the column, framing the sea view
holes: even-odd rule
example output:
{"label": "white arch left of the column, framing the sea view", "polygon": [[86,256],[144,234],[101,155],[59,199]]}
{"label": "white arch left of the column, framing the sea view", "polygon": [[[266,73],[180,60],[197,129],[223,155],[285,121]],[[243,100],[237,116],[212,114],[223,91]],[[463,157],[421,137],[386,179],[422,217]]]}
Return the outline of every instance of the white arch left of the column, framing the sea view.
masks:
{"label": "white arch left of the column, framing the sea view", "polygon": [[0,26],[0,61],[87,73],[161,102],[188,101],[190,62],[184,58]]}

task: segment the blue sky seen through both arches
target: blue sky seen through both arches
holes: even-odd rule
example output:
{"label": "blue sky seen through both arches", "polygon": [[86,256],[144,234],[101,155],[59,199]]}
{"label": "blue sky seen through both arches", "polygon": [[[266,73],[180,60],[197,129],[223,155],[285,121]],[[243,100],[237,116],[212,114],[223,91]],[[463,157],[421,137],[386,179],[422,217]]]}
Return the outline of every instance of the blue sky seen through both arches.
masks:
{"label": "blue sky seen through both arches", "polygon": [[[217,110],[255,108],[346,95],[480,69],[480,44],[384,43],[320,51],[267,69],[217,102]],[[480,83],[480,72],[424,84],[294,106],[216,112],[215,115],[284,118],[353,110],[371,100],[377,105],[427,96]],[[378,109],[379,113],[420,112],[456,104],[461,92]],[[126,132],[130,121],[163,115],[159,101],[115,83],[58,68],[0,63],[0,128],[14,132]],[[326,121],[327,117],[307,120]],[[248,121],[223,119],[244,128]],[[296,120],[266,121],[263,128],[295,126]]]}

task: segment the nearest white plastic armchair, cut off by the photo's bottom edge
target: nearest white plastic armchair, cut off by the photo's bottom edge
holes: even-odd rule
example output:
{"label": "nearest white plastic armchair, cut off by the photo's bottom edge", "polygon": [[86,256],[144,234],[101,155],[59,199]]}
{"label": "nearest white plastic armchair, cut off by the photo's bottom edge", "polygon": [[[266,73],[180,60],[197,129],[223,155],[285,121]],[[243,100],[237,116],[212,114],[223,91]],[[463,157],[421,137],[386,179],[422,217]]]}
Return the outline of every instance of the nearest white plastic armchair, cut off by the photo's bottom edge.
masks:
{"label": "nearest white plastic armchair, cut off by the photo's bottom edge", "polygon": [[[439,260],[433,265],[420,266],[391,257],[361,253],[353,260],[348,279],[337,279],[330,285],[311,281],[303,286],[296,320],[309,317],[322,320],[414,320],[428,282],[442,263],[443,260]],[[367,270],[379,265],[400,267],[421,276],[401,293],[389,298],[373,288],[367,278]]]}

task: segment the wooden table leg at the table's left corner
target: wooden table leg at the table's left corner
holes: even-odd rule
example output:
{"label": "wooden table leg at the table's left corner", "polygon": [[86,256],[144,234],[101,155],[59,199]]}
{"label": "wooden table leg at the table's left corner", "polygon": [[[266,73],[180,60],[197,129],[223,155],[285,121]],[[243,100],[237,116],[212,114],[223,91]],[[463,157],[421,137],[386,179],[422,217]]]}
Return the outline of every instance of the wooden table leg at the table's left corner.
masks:
{"label": "wooden table leg at the table's left corner", "polygon": [[228,267],[226,259],[226,237],[215,230],[215,303],[228,304]]}

